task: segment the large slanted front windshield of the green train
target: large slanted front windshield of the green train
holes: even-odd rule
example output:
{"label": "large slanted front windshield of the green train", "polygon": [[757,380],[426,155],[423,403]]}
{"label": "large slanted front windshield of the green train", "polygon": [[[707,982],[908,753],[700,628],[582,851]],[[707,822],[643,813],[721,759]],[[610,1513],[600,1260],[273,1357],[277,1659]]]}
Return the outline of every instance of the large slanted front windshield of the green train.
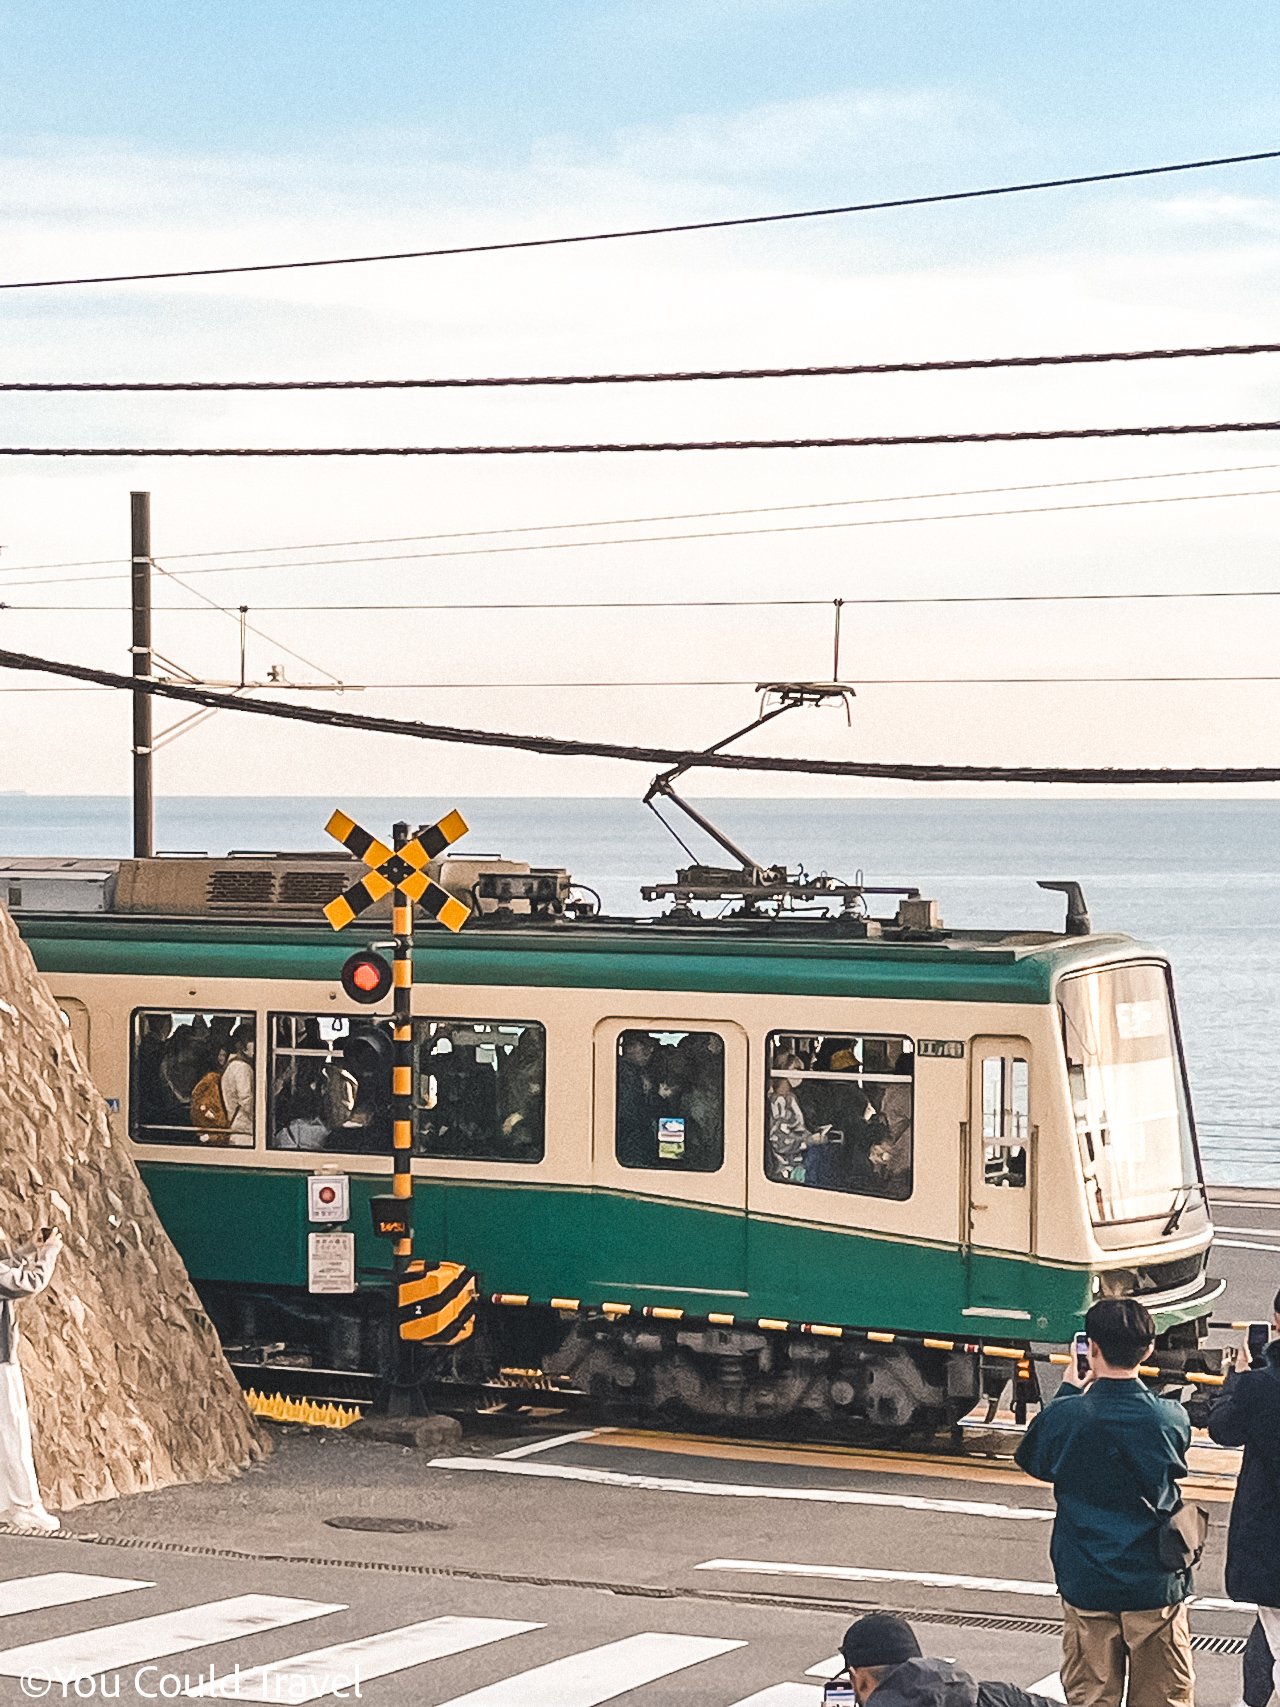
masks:
{"label": "large slanted front windshield of the green train", "polygon": [[1063,978],[1058,1004],[1094,1226],[1172,1215],[1198,1168],[1167,970]]}

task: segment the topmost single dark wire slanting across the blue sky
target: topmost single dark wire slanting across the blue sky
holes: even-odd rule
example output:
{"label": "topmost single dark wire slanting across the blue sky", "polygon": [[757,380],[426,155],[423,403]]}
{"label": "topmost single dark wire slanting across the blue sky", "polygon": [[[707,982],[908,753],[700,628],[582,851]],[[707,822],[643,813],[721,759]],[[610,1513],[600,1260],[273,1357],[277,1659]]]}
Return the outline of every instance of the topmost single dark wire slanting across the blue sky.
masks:
{"label": "topmost single dark wire slanting across the blue sky", "polygon": [[58,285],[131,285],[159,278],[217,278],[230,273],[288,273],[316,266],[367,266],[375,261],[427,261],[449,254],[495,254],[510,249],[553,249],[580,242],[614,242],[623,237],[667,237],[693,230],[727,230],[741,225],[780,225],[804,218],[833,218],[840,213],[877,213],[889,208],[932,207],[942,201],[980,201],[1012,196],[1033,189],[1068,189],[1077,184],[1108,184],[1126,178],[1162,178],[1171,172],[1200,172],[1213,166],[1248,166],[1254,160],[1280,159],[1280,149],[1258,154],[1225,154],[1212,160],[1179,160],[1172,166],[1137,166],[1120,172],[1087,172],[1075,178],[1041,178],[1021,184],[997,184],[990,189],[949,189],[928,196],[896,196],[887,201],[853,201],[845,207],[802,208],[790,213],[748,213],[737,218],[686,220],[679,225],[638,225],[628,230],[580,232],[570,237],[517,237],[505,242],[468,242],[439,249],[401,249],[386,254],[341,254],[314,261],[256,261],[241,266],[184,266],[148,273],[99,273],[75,278],[17,278],[0,283],[0,290],[44,290]]}

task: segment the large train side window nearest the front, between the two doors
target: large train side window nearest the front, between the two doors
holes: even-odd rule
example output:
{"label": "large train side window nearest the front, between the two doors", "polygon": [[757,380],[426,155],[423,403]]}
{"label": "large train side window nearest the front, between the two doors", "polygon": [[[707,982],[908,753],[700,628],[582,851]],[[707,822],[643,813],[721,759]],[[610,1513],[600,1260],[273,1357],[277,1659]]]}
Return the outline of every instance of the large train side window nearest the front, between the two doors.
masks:
{"label": "large train side window nearest the front, between the two doors", "polygon": [[913,1089],[910,1038],[770,1033],[765,1173],[821,1191],[908,1198]]}

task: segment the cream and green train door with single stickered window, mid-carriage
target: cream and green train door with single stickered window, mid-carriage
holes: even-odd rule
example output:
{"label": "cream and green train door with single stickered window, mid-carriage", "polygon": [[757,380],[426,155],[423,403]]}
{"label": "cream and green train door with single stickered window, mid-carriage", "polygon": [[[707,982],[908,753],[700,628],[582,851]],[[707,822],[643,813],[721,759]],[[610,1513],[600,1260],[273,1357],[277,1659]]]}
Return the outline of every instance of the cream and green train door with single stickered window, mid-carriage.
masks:
{"label": "cream and green train door with single stickered window, mid-carriage", "polygon": [[746,1084],[732,1022],[596,1028],[587,1273],[602,1301],[684,1294],[678,1308],[717,1309],[746,1296]]}

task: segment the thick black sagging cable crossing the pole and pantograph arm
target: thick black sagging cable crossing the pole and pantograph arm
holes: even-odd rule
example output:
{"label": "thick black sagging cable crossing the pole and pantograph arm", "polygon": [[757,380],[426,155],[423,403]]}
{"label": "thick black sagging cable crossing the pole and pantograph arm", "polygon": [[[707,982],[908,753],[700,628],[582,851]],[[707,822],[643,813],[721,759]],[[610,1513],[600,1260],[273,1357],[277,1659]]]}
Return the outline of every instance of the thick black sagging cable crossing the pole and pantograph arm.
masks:
{"label": "thick black sagging cable crossing the pole and pantograph arm", "polygon": [[498,729],[464,729],[454,724],[425,724],[403,717],[374,717],[367,712],[338,712],[331,707],[283,705],[278,700],[241,700],[229,693],[184,683],[142,681],[87,664],[0,650],[0,669],[34,671],[90,681],[125,693],[143,691],[159,698],[215,705],[251,717],[276,717],[323,729],[353,729],[364,734],[408,736],[454,746],[505,748],[550,758],[609,758],[635,765],[679,765],[689,770],[783,772],[807,777],[879,777],[898,782],[1072,782],[1072,784],[1253,784],[1280,782],[1271,766],[1186,766],[1186,768],[1099,768],[1050,765],[908,765],[860,760],[775,758],[758,753],[707,753],[684,748],[626,746],[614,741],[582,741],[565,736],[515,734]]}

